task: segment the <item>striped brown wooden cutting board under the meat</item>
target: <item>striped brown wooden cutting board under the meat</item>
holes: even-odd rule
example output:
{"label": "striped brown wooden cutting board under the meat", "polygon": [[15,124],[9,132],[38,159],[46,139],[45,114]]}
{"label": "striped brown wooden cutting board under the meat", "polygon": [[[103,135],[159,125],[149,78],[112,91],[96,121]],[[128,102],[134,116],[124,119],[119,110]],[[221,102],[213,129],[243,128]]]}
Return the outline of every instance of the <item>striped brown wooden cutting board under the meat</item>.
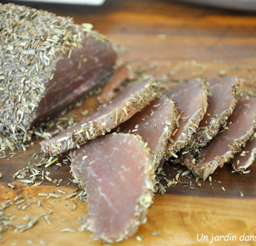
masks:
{"label": "striped brown wooden cutting board under the meat", "polygon": [[[125,47],[120,61],[129,60],[132,66],[140,66],[141,71],[150,71],[160,79],[167,77],[170,83],[219,74],[237,75],[246,83],[256,83],[256,17],[253,13],[207,9],[164,0],[108,0],[102,7],[42,3],[30,3],[30,6],[72,16],[76,23],[92,23],[94,29]],[[75,112],[95,110],[95,98],[87,99],[82,109]],[[0,159],[0,202],[12,202],[15,196],[24,194],[21,207],[33,199],[35,203],[25,210],[10,205],[4,214],[15,216],[12,222],[26,223],[23,220],[26,215],[31,220],[46,213],[50,225],[42,216],[32,229],[24,232],[10,229],[1,233],[0,245],[29,245],[31,242],[33,245],[108,245],[93,240],[90,232],[78,231],[82,225],[78,218],[85,214],[86,203],[75,196],[66,198],[76,189],[69,180],[72,179],[69,164],[48,168],[53,180],[63,179],[58,187],[47,180],[37,187],[12,180],[17,170],[26,168],[29,162],[35,163],[32,155],[39,152],[39,142],[35,139],[35,145],[26,152],[22,150],[13,157]],[[185,169],[165,165],[161,182],[166,193],[155,196],[148,222],[140,226],[135,236],[114,245],[256,245],[256,165],[249,169],[248,174],[232,173],[232,168],[226,164],[211,176],[212,182],[196,182],[188,174],[180,175],[174,187],[167,187],[164,177],[172,180],[179,170]],[[15,189],[10,189],[8,183],[15,185]],[[51,192],[61,197],[38,196],[38,193]],[[40,207],[37,207],[38,200]],[[75,204],[76,209],[72,210]],[[76,232],[60,232],[64,228]],[[202,234],[208,237],[207,240],[206,237],[200,240]],[[220,236],[226,236],[225,239],[229,236],[229,240],[224,241]],[[234,237],[230,240],[230,236],[231,239],[236,236],[236,240]]]}

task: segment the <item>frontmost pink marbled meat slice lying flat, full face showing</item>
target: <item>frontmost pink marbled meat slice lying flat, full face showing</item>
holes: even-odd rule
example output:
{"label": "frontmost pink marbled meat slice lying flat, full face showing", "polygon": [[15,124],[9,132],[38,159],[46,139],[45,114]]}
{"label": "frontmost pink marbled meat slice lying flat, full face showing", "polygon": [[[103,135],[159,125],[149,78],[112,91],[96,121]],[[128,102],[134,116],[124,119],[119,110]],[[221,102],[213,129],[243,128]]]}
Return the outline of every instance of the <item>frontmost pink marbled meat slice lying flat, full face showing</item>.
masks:
{"label": "frontmost pink marbled meat slice lying flat, full face showing", "polygon": [[140,136],[108,134],[76,149],[71,169],[87,193],[85,228],[106,242],[132,236],[145,223],[155,174]]}

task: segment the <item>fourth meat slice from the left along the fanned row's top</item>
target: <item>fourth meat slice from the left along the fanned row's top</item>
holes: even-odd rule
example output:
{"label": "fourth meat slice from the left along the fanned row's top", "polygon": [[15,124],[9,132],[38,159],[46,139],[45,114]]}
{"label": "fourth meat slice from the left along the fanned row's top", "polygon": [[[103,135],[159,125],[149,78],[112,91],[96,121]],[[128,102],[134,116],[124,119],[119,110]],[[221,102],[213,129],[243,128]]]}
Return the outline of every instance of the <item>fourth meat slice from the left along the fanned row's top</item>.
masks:
{"label": "fourth meat slice from the left along the fanned row's top", "polygon": [[207,80],[211,95],[208,96],[208,107],[198,131],[193,135],[196,143],[202,147],[218,133],[221,126],[232,114],[240,96],[239,82],[236,77],[222,77]]}

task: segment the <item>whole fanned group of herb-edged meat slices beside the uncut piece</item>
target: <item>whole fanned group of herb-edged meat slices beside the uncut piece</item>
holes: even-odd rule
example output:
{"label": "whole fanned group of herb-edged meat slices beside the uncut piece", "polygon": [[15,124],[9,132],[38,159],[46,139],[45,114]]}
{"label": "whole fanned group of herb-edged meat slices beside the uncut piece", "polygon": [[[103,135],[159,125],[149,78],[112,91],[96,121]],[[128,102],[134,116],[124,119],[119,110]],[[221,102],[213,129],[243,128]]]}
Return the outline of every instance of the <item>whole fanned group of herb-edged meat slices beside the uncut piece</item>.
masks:
{"label": "whole fanned group of herb-edged meat slices beside the uncut piece", "polygon": [[[256,155],[256,99],[237,103],[235,77],[190,80],[165,95],[158,89],[151,77],[131,84],[105,108],[41,143],[51,154],[73,149],[73,176],[88,194],[84,227],[106,242],[126,239],[146,221],[154,170],[169,157],[180,156],[177,160],[206,179],[239,151],[236,170],[244,170]],[[114,128],[117,133],[108,134]]]}

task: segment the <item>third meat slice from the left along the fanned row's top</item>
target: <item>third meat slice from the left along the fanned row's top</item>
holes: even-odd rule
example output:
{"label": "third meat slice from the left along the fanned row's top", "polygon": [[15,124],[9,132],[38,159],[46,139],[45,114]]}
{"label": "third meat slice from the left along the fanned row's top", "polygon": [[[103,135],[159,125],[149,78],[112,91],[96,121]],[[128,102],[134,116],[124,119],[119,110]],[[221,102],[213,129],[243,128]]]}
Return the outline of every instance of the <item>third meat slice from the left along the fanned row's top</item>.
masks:
{"label": "third meat slice from the left along the fanned row's top", "polygon": [[175,153],[186,147],[191,135],[196,132],[206,113],[207,93],[208,86],[200,79],[178,84],[168,90],[168,97],[177,104],[178,112],[181,114],[179,127],[173,133],[167,147],[169,156],[177,157]]}

